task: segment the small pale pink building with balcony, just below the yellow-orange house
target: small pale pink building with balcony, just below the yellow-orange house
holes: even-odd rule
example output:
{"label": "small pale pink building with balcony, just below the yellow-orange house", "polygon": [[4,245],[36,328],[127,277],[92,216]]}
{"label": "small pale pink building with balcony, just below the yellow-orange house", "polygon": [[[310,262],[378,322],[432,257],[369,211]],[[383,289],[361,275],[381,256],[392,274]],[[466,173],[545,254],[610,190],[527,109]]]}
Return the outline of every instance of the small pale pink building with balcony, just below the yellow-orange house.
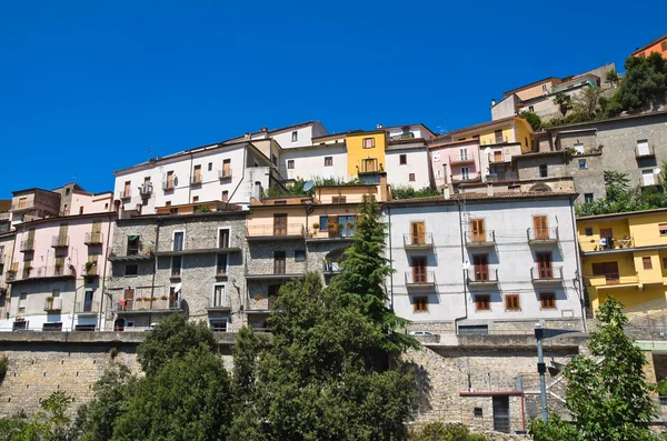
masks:
{"label": "small pale pink building with balcony, just below the yellow-orange house", "polygon": [[429,141],[429,153],[434,182],[439,190],[446,186],[481,180],[479,139],[451,141],[448,137],[434,138]]}

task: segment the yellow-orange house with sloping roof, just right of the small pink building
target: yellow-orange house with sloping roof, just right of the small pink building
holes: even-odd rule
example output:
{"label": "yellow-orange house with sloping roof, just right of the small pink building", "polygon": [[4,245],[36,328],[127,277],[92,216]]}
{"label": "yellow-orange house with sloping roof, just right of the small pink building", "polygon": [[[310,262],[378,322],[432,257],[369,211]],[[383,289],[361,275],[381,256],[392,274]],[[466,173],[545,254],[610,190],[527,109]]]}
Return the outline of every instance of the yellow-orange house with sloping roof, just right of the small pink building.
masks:
{"label": "yellow-orange house with sloping roof, just right of the small pink building", "polygon": [[447,133],[452,141],[479,139],[479,147],[519,142],[522,152],[532,150],[532,128],[522,118],[509,117]]}

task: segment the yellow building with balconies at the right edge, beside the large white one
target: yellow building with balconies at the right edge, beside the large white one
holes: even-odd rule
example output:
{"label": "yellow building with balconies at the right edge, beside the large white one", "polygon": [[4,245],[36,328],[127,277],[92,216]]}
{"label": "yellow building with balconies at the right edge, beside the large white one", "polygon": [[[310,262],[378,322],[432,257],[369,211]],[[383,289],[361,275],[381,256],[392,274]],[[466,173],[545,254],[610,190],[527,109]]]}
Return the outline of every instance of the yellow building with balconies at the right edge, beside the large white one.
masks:
{"label": "yellow building with balconies at the right edge, beside the large white one", "polygon": [[607,295],[626,308],[667,308],[667,209],[580,217],[583,275],[593,311]]}

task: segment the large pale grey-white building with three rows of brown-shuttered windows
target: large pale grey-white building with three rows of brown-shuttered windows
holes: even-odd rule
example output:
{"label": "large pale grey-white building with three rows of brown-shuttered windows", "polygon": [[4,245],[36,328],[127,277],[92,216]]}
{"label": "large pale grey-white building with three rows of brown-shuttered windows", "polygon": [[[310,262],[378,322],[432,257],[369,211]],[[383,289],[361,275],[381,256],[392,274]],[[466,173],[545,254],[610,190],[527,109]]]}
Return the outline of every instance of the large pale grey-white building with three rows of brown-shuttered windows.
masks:
{"label": "large pale grey-white building with three rows of brown-shuttered windows", "polygon": [[581,329],[576,193],[390,201],[396,313],[432,333]]}

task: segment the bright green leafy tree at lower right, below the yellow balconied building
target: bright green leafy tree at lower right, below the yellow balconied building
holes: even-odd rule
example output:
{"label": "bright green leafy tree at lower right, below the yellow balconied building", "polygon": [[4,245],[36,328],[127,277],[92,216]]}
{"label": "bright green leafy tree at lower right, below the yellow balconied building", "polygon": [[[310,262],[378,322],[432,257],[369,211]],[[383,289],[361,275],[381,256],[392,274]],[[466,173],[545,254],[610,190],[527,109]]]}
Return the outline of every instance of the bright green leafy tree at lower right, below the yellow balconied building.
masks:
{"label": "bright green leafy tree at lower right, below the yellow balconied building", "polygon": [[[590,355],[577,355],[565,369],[569,423],[552,417],[532,421],[535,440],[616,441],[657,440],[649,429],[655,407],[644,375],[644,352],[624,332],[628,319],[613,297],[600,307],[600,328],[588,343]],[[558,438],[556,438],[558,435]],[[564,437],[564,438],[560,438]]]}

